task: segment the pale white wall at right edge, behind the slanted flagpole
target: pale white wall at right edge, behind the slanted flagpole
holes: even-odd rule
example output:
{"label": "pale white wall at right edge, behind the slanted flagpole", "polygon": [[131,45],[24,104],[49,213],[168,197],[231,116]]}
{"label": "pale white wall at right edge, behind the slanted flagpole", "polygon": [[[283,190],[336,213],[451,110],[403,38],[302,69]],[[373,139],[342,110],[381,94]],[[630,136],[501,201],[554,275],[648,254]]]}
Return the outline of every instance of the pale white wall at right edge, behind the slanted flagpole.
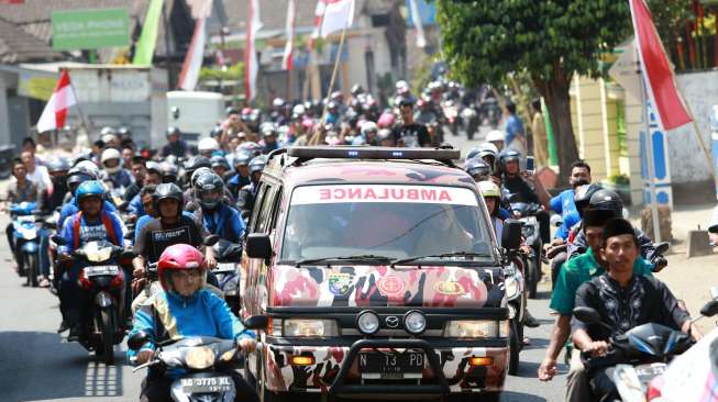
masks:
{"label": "pale white wall at right edge, behind the slanted flagpole", "polygon": [[[677,76],[678,87],[698,123],[700,135],[710,152],[710,112],[718,104],[718,71]],[[674,183],[710,180],[710,167],[696,137],[693,124],[669,132],[671,174]]]}

